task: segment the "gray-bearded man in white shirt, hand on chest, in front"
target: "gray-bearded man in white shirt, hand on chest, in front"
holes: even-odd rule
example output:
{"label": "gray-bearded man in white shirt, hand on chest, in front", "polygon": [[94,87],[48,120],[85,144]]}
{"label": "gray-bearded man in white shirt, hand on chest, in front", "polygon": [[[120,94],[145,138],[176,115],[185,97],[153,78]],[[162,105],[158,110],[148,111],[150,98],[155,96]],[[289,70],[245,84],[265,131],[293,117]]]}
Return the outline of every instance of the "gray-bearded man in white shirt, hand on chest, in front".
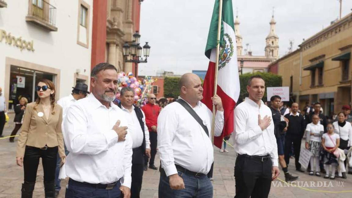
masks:
{"label": "gray-bearded man in white shirt, hand on chest, in front", "polygon": [[63,121],[70,151],[60,172],[60,178],[70,178],[65,197],[130,198],[132,138],[124,112],[112,103],[117,69],[99,63],[90,85],[92,94],[71,105]]}

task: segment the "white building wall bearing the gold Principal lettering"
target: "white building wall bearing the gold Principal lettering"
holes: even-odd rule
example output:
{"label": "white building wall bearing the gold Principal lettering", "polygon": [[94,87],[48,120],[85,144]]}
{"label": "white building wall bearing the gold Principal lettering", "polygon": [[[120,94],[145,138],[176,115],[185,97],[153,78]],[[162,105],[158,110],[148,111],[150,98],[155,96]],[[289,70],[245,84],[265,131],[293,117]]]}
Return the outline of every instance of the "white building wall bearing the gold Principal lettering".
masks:
{"label": "white building wall bearing the gold Principal lettering", "polygon": [[[45,70],[55,74],[57,98],[68,95],[77,78],[89,83],[92,47],[93,0],[50,1],[56,7],[57,31],[26,22],[29,0],[7,1],[6,8],[0,8],[0,30],[26,41],[33,41],[34,51],[20,50],[18,47],[0,41],[0,87],[8,100],[10,89],[10,69],[12,64],[27,69]],[[89,6],[88,43],[78,44],[78,15],[80,2]],[[76,74],[76,71],[79,73]]]}

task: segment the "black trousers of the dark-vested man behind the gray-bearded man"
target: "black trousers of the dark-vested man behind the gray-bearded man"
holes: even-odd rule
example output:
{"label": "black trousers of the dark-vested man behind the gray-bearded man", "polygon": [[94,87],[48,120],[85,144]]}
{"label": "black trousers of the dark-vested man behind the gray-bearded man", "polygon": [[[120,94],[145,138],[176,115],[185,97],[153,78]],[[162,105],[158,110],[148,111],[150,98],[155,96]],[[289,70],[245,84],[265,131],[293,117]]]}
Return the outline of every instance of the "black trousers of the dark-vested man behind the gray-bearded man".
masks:
{"label": "black trousers of the dark-vested man behind the gray-bearded man", "polygon": [[139,198],[144,172],[144,149],[138,147],[132,150],[131,198]]}

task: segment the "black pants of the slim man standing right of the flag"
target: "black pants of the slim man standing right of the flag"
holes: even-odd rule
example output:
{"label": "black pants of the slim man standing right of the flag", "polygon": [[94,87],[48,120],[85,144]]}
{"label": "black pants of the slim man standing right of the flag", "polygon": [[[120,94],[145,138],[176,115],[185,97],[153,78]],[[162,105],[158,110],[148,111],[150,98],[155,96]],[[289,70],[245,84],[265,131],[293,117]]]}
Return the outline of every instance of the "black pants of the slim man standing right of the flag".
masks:
{"label": "black pants of the slim man standing right of the flag", "polygon": [[235,198],[266,198],[271,186],[272,162],[238,155],[235,163]]}

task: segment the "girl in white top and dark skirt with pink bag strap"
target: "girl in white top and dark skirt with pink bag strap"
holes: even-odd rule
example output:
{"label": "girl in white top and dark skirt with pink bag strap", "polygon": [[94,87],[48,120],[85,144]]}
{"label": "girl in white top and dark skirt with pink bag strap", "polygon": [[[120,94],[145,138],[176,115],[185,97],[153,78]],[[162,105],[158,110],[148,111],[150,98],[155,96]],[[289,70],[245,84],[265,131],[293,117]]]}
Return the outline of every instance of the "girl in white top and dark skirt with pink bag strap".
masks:
{"label": "girl in white top and dark skirt with pink bag strap", "polygon": [[334,155],[334,151],[340,146],[340,136],[335,134],[333,124],[328,124],[326,129],[328,132],[321,137],[321,145],[324,148],[324,167],[326,171],[324,178],[329,178],[329,167],[331,167],[330,179],[335,179],[335,169],[338,161],[337,157]]}

